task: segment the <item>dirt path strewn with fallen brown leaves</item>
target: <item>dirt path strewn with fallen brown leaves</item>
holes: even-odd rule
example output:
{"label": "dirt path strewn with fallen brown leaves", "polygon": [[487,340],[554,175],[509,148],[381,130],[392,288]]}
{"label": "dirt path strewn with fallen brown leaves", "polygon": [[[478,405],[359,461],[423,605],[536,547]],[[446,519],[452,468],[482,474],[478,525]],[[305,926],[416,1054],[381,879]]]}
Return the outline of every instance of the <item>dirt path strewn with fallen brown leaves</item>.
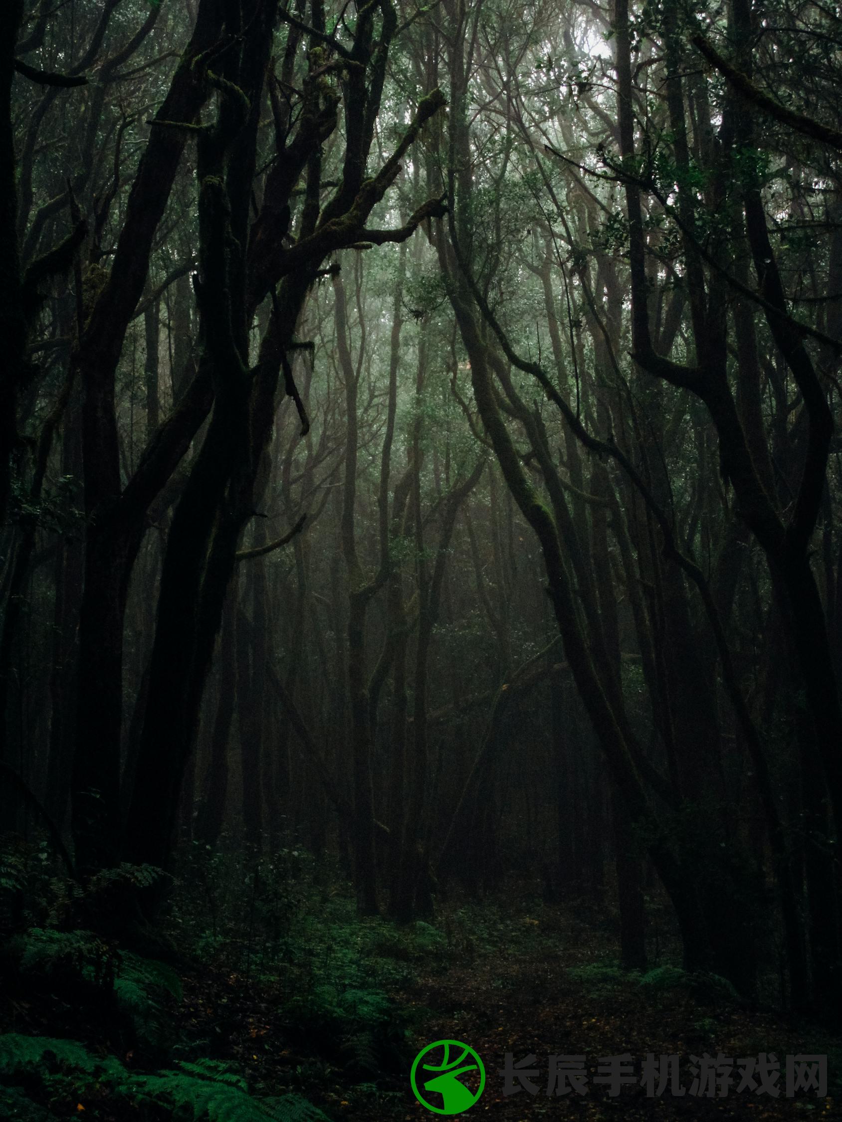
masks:
{"label": "dirt path strewn with fallen brown leaves", "polygon": [[[518,922],[518,921],[515,921]],[[842,1118],[842,1102],[815,1095],[785,1095],[785,1057],[818,1054],[833,1046],[842,1056],[839,1040],[822,1040],[815,1032],[799,1032],[781,1020],[735,1002],[730,995],[690,995],[686,987],[641,985],[628,980],[610,964],[594,965],[604,947],[594,946],[593,929],[558,917],[551,922],[521,917],[521,930],[513,927],[505,941],[484,947],[467,946],[443,973],[422,975],[417,985],[399,995],[402,1003],[420,1012],[415,1043],[422,1048],[437,1039],[458,1039],[472,1046],[486,1068],[486,1086],[466,1114],[531,1122],[537,1119],[790,1119]],[[493,941],[493,940],[492,940]],[[511,948],[511,949],[510,949]],[[669,974],[665,974],[669,981]],[[506,1052],[515,1063],[530,1054],[529,1067],[537,1069],[531,1082],[538,1086],[504,1094],[500,1070]],[[770,1094],[735,1093],[743,1065],[733,1069],[733,1084],[725,1097],[689,1094],[693,1083],[690,1057],[759,1057],[775,1054],[780,1061],[778,1098]],[[606,1085],[594,1083],[600,1057],[631,1054],[633,1084],[623,1085],[616,1096]],[[683,1097],[666,1091],[648,1097],[640,1086],[647,1054],[680,1058]],[[587,1093],[547,1095],[551,1055],[584,1056]],[[834,1072],[831,1055],[831,1084]],[[835,1076],[835,1078],[834,1078]],[[758,1073],[751,1076],[760,1085]],[[721,1089],[721,1088],[720,1088]],[[344,1114],[370,1122],[421,1122],[432,1115],[415,1101],[409,1087],[395,1088],[379,1101],[349,1104]]]}

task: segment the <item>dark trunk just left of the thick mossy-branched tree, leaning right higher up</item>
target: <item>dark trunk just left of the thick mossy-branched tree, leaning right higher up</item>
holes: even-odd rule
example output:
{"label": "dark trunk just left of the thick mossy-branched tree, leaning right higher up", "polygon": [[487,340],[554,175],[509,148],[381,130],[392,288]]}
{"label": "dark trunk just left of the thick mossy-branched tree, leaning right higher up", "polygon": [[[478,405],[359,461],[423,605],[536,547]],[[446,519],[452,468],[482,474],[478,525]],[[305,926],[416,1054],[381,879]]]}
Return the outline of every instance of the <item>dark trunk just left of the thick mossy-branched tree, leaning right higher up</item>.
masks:
{"label": "dark trunk just left of the thick mossy-branched tree, leaning right higher up", "polygon": [[[219,30],[217,3],[202,0],[193,36],[156,120],[194,120],[208,91],[193,70],[193,59],[216,42]],[[73,835],[82,872],[113,864],[119,856],[126,595],[145,530],[146,508],[157,493],[157,488],[147,493],[145,503],[130,503],[128,493],[121,490],[115,377],[126,330],[146,282],[153,237],[185,141],[185,130],[152,129],[129,194],[109,279],[91,310],[75,356],[85,387],[82,450],[89,517],[79,625],[84,673],[80,675],[73,766]]]}

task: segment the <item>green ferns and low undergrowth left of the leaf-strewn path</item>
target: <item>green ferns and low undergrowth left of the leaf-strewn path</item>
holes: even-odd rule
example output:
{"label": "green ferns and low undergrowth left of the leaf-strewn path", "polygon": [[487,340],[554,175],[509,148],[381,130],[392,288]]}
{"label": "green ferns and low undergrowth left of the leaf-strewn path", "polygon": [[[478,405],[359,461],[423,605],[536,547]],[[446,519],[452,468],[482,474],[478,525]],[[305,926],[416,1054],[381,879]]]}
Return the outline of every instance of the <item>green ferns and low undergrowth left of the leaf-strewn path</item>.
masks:
{"label": "green ferns and low undergrowth left of the leaf-strewn path", "polygon": [[[421,963],[446,968],[449,937],[424,922],[360,920],[336,871],[304,850],[268,858],[194,847],[180,873],[164,917],[179,948],[172,964],[83,926],[126,885],[155,884],[158,871],[123,865],[83,889],[44,847],[0,854],[0,965],[12,1001],[0,1020],[0,1118],[319,1122],[323,1111],[291,1092],[328,1073],[351,1097],[394,1094],[412,1022],[390,993]],[[184,1015],[185,971],[202,980],[202,1000],[214,978],[242,1010],[262,993],[277,996],[275,1050],[281,1032],[312,1059],[293,1064],[282,1085],[247,1070],[234,1047],[241,1024],[209,1036],[207,1019]],[[27,1032],[17,1031],[21,1010]]]}

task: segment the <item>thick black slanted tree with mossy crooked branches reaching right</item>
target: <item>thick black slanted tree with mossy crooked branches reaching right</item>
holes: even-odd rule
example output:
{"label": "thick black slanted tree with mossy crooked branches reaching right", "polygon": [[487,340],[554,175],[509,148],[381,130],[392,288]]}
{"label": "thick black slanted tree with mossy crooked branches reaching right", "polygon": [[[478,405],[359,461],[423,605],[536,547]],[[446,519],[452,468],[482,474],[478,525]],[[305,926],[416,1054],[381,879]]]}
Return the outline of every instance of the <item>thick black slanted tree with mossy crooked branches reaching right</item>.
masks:
{"label": "thick black slanted tree with mossy crooked branches reaching right", "polygon": [[[320,211],[320,145],[336,127],[337,95],[319,81],[321,55],[308,56],[304,105],[296,134],[267,177],[264,208],[248,237],[251,185],[256,167],[256,130],[260,121],[275,6],[253,0],[248,18],[228,11],[236,28],[237,49],[226,52],[218,120],[199,131],[200,305],[204,359],[211,371],[214,405],[202,447],[173,515],[161,581],[158,619],[153,649],[149,702],[144,725],[141,761],[128,821],[127,854],[136,862],[164,864],[173,845],[179,789],[195,735],[196,716],[222,600],[235,564],[239,535],[254,511],[254,484],[267,448],[275,413],[281,368],[285,389],[301,408],[287,355],[296,348],[294,332],[311,284],[323,258],[361,239],[402,241],[424,218],[441,213],[440,200],[424,203],[397,230],[367,230],[365,222],[400,171],[400,159],[423,123],[443,104],[440,92],[423,99],[412,125],[377,175],[365,178],[365,162],[374,136],[385,59],[396,28],[390,9],[373,43],[370,9],[356,26],[355,61],[346,96],[348,129],[345,175],[339,191]],[[387,17],[387,18],[386,18]],[[393,18],[394,17],[394,18]],[[320,20],[321,15],[317,12]],[[356,56],[359,56],[358,59]],[[373,67],[366,94],[365,73]],[[219,80],[208,81],[220,86]],[[230,83],[230,84],[225,84]],[[247,96],[244,99],[244,91]],[[357,119],[358,118],[358,119]],[[361,126],[361,128],[357,127]],[[289,158],[286,158],[289,157]],[[298,240],[278,252],[289,226],[289,202],[299,176],[306,188]],[[272,206],[266,206],[272,180]],[[284,229],[277,223],[282,212]],[[248,264],[245,246],[248,241]],[[331,273],[336,270],[331,269]],[[280,282],[280,283],[278,283]],[[254,370],[248,365],[248,329],[262,300],[272,295],[273,312]],[[200,362],[200,368],[201,368]],[[303,431],[308,424],[302,411]],[[360,635],[360,605],[351,604],[349,634]],[[355,666],[354,660],[350,664]],[[356,688],[356,683],[355,683]],[[365,682],[351,705],[360,723]],[[357,757],[363,761],[364,753]],[[360,790],[365,767],[357,771]],[[366,813],[366,818],[367,818]],[[366,846],[366,852],[368,847]],[[370,896],[370,893],[368,893]],[[370,903],[370,900],[369,900]]]}

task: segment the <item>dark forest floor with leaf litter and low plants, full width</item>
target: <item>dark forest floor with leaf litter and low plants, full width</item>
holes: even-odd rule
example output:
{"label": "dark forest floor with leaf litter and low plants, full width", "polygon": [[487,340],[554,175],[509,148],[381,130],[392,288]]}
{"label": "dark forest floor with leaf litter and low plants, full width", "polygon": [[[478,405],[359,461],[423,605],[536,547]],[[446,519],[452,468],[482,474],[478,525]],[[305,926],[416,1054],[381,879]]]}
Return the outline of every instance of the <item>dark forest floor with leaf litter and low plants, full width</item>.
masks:
{"label": "dark forest floor with leaf litter and low plants, full width", "polygon": [[[175,910],[171,937],[189,948],[180,960],[180,983],[161,1006],[148,997],[150,1009],[164,1010],[165,1024],[148,1011],[144,1015],[147,999],[138,1001],[137,993],[127,1028],[125,1011],[113,1003],[92,1000],[84,986],[63,991],[66,980],[45,971],[43,948],[52,948],[56,939],[61,946],[81,938],[80,932],[45,942],[43,932],[30,931],[27,954],[34,963],[40,954],[42,966],[30,981],[19,978],[16,986],[0,990],[0,1060],[3,1039],[12,1039],[1,1033],[79,1040],[91,1055],[113,1057],[123,1074],[143,1077],[167,1069],[172,1076],[173,1068],[205,1064],[220,1078],[227,1078],[220,1072],[242,1078],[242,1086],[263,1102],[304,1096],[335,1122],[422,1122],[432,1115],[412,1093],[412,1060],[428,1045],[452,1039],[475,1049],[485,1065],[485,1088],[468,1112],[472,1118],[842,1119],[842,1038],[743,1002],[722,980],[683,974],[657,904],[650,919],[661,930],[650,940],[651,968],[626,974],[617,965],[610,908],[550,905],[540,896],[507,892],[479,903],[450,901],[434,922],[399,927],[379,918],[358,919],[350,896],[336,886],[310,885],[298,896],[273,896],[262,882],[260,899],[254,888],[241,891],[239,907],[227,903],[225,932],[214,918],[213,932],[199,940],[195,913]],[[218,907],[221,901],[214,901]],[[74,954],[79,959],[84,951]],[[143,963],[137,959],[132,967],[136,980],[144,977]],[[505,1093],[506,1054],[515,1064],[527,1061],[534,1093]],[[641,1079],[648,1054],[656,1060],[679,1058],[684,1095],[669,1086],[660,1095],[647,1094]],[[693,1065],[719,1054],[721,1063],[723,1057],[733,1063],[761,1054],[777,1060],[778,1097],[757,1089],[736,1093],[739,1064],[725,1096],[721,1087],[711,1097],[694,1093]],[[787,1097],[785,1057],[797,1054],[827,1056],[826,1096],[802,1092]],[[600,1064],[624,1055],[631,1067],[623,1070],[631,1070],[633,1080],[610,1094],[612,1088],[598,1082],[606,1070]],[[584,1057],[586,1093],[547,1094],[550,1056]],[[71,1077],[71,1069],[55,1061],[49,1077],[37,1082],[36,1074],[30,1065],[22,1079],[26,1094],[47,1112],[34,1119],[158,1122],[194,1116],[199,1122],[208,1116],[198,1109],[191,1114],[167,1107],[172,1098],[166,1088],[150,1107],[125,1087],[117,1102],[117,1085],[101,1074]],[[2,1076],[0,1070],[0,1084]],[[759,1082],[757,1072],[753,1078]],[[20,1083],[17,1076],[6,1079],[7,1086]],[[311,1115],[290,1116],[309,1122]]]}

